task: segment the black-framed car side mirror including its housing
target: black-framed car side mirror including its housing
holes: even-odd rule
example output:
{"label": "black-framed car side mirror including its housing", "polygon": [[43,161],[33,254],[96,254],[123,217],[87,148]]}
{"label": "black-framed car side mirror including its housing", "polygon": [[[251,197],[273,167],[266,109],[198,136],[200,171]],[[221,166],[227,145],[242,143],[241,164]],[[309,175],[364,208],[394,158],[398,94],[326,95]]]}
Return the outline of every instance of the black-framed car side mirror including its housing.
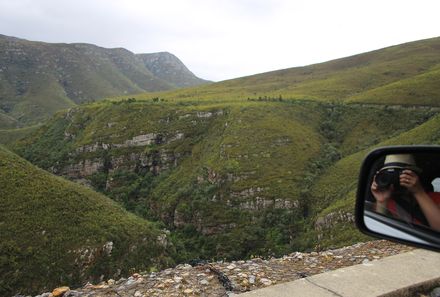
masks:
{"label": "black-framed car side mirror including its housing", "polygon": [[365,158],[356,198],[363,233],[440,251],[440,146],[393,146]]}

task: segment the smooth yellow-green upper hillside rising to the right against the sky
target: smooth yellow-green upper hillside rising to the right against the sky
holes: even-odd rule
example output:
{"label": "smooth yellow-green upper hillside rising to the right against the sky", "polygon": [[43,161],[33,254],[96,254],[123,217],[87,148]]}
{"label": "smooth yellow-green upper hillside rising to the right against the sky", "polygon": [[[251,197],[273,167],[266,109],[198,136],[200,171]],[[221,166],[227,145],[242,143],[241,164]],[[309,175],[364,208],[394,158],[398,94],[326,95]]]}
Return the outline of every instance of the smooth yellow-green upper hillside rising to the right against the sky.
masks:
{"label": "smooth yellow-green upper hillside rising to the right against the sky", "polygon": [[432,38],[320,64],[136,98],[224,101],[281,96],[284,99],[439,106],[439,67],[440,38]]}

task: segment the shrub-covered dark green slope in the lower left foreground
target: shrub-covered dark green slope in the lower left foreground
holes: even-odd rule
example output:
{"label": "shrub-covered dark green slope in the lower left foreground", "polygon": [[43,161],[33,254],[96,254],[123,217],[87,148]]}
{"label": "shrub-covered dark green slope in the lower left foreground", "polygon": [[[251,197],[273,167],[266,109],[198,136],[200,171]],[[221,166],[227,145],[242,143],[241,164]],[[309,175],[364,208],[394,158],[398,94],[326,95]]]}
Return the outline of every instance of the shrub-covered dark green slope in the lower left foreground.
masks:
{"label": "shrub-covered dark green slope in the lower left foreground", "polygon": [[1,296],[170,264],[157,226],[2,146],[0,184]]}

